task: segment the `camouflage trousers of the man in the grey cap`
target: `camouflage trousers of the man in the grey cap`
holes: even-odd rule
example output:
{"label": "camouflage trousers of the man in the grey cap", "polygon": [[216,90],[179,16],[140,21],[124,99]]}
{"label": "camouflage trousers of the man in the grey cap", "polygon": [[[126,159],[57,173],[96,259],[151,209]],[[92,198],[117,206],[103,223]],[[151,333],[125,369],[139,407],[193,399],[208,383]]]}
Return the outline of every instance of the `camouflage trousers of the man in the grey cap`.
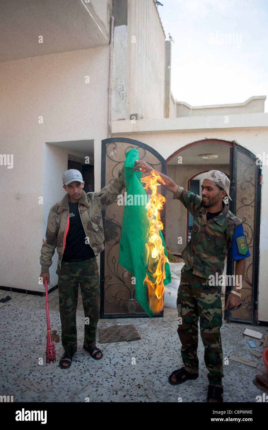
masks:
{"label": "camouflage trousers of the man in the grey cap", "polygon": [[95,257],[90,260],[67,263],[62,261],[59,275],[59,312],[62,323],[62,346],[65,352],[77,351],[76,308],[78,286],[80,284],[85,313],[84,345],[91,349],[96,344],[99,321],[100,285],[98,263]]}

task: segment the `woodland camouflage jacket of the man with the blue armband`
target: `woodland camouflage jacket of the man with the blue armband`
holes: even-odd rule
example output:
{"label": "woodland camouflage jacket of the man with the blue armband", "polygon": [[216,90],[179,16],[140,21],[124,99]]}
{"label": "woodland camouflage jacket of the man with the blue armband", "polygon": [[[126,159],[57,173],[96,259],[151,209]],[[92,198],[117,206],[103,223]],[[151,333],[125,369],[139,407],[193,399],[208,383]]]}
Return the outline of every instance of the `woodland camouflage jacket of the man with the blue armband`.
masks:
{"label": "woodland camouflage jacket of the man with the blue armband", "polygon": [[222,274],[224,260],[231,246],[235,227],[242,224],[228,206],[224,204],[222,212],[206,221],[206,208],[202,197],[178,187],[173,199],[179,199],[193,215],[191,240],[182,251],[186,269],[193,269],[193,274],[209,279],[209,275]]}

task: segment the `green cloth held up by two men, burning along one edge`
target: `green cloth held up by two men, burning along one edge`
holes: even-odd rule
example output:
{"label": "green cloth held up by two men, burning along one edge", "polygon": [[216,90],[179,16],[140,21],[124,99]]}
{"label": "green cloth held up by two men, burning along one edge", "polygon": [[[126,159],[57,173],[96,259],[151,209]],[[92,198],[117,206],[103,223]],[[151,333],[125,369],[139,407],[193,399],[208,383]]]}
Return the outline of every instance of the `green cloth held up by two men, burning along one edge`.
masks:
{"label": "green cloth held up by two men, burning along one edge", "polygon": [[[126,153],[126,161],[124,164],[126,193],[129,199],[130,195],[147,195],[140,179],[142,172],[133,171],[135,160],[139,160],[139,152],[136,149],[131,149]],[[126,202],[127,201],[130,200],[126,199]],[[151,317],[154,313],[152,313],[149,308],[147,288],[143,285],[146,273],[148,273],[149,276],[148,264],[146,262],[147,249],[145,246],[145,243],[148,243],[149,239],[149,221],[146,216],[146,204],[147,200],[145,199],[144,205],[133,204],[130,206],[125,204],[124,206],[119,248],[119,264],[135,276],[136,299],[145,312]],[[164,252],[167,257],[166,246],[161,231],[159,231],[159,235],[162,239]],[[169,263],[165,263],[165,272],[166,279],[164,279],[164,285],[171,282]]]}

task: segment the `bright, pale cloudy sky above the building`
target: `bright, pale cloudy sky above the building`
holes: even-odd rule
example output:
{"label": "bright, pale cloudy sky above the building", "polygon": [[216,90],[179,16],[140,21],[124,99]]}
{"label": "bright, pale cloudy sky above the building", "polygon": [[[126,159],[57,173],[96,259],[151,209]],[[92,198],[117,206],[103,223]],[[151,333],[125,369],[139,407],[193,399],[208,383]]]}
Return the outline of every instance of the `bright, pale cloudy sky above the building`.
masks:
{"label": "bright, pale cloudy sky above the building", "polygon": [[[192,106],[268,96],[267,0],[161,0],[171,91]],[[231,40],[228,34],[234,34]],[[268,112],[268,101],[265,102]]]}

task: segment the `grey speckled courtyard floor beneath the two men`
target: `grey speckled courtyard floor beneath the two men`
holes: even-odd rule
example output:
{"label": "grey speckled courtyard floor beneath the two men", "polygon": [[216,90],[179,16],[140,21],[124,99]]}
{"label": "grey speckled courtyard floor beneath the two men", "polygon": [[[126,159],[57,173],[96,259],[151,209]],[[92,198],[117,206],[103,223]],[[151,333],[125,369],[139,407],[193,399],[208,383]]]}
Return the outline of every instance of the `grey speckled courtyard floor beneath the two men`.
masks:
{"label": "grey speckled courtyard floor beneath the two men", "polygon": [[[71,367],[61,369],[61,342],[55,343],[57,362],[46,364],[45,298],[0,291],[0,298],[6,295],[12,299],[0,308],[0,395],[14,396],[14,402],[85,402],[86,398],[90,402],[178,402],[179,397],[182,402],[206,402],[208,371],[200,335],[199,378],[177,386],[167,381],[169,374],[182,366],[176,309],[164,309],[163,318],[101,319],[98,328],[134,324],[141,340],[99,344],[98,334],[97,346],[104,354],[98,361],[83,350],[84,313],[79,294],[78,349]],[[58,300],[58,290],[49,294],[51,329],[61,336]],[[222,325],[224,357],[243,356],[258,363],[256,369],[231,360],[224,365],[225,402],[256,402],[256,396],[262,394],[253,379],[262,373],[264,362],[250,355],[247,340],[255,341],[256,351],[262,353],[263,347],[257,339],[243,338],[246,327],[268,334],[264,326]]]}

